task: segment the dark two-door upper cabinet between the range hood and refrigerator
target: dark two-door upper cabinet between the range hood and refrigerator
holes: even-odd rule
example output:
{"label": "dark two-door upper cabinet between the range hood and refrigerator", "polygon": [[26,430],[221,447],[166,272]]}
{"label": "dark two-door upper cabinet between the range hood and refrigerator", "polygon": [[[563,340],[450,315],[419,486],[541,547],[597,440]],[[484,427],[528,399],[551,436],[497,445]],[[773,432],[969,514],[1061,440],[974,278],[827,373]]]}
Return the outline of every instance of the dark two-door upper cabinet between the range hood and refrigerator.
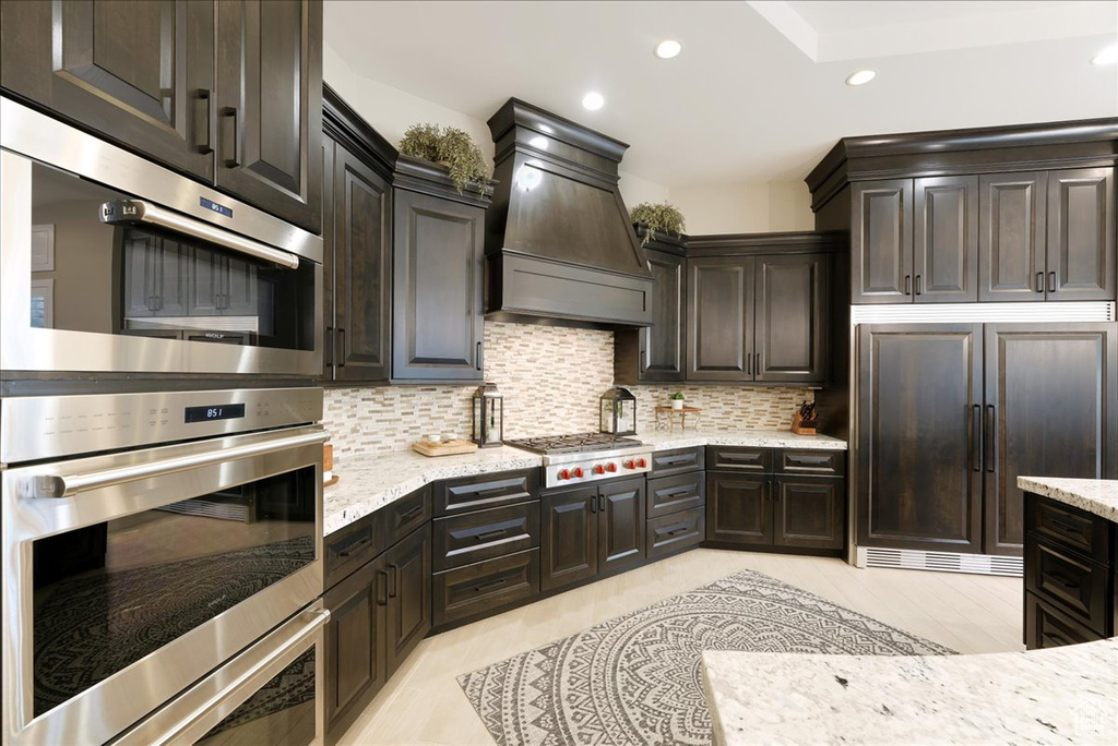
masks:
{"label": "dark two-door upper cabinet between the range hood and refrigerator", "polygon": [[818,233],[691,237],[686,380],[825,383],[836,247]]}

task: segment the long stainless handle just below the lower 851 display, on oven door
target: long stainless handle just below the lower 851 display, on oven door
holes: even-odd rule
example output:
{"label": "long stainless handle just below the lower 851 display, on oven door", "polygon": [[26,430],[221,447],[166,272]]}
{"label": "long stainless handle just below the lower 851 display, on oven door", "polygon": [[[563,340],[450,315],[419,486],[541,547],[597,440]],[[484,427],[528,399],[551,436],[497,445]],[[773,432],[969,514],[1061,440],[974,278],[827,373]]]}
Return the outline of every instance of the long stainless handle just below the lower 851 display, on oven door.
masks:
{"label": "long stainless handle just below the lower 851 display, on oven door", "polygon": [[138,479],[161,477],[176,471],[187,471],[199,467],[247,459],[264,453],[274,453],[300,446],[325,442],[330,436],[325,432],[311,432],[291,438],[268,440],[263,443],[236,446],[203,453],[192,453],[172,459],[161,459],[148,463],[134,463],[116,469],[93,471],[89,474],[38,475],[25,479],[21,484],[20,497],[23,498],[63,498],[74,497],[78,492],[102,487],[113,487]]}

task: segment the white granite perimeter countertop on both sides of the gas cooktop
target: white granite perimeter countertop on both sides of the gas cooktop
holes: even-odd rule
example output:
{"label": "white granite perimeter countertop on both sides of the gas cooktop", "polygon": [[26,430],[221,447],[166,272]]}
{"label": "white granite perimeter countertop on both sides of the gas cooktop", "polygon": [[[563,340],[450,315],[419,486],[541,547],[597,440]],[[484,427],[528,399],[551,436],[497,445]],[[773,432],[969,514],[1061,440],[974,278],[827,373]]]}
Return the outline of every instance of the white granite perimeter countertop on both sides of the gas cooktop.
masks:
{"label": "white granite perimeter countertop on both sides of the gas cooktop", "polygon": [[[710,432],[653,431],[636,436],[654,451],[694,446],[757,446],[846,450],[846,442],[827,436],[797,436],[778,430]],[[347,453],[334,463],[338,484],[323,492],[323,533],[333,534],[427,482],[543,466],[539,453],[519,448],[482,448],[473,453],[429,458],[415,451]]]}

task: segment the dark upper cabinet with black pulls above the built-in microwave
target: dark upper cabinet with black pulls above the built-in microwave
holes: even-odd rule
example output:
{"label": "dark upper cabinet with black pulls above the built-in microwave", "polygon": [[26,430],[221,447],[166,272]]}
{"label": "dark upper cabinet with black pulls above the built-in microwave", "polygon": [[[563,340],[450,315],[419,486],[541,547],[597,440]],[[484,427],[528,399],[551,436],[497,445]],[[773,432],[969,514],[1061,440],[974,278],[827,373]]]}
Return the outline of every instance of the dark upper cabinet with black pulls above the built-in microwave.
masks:
{"label": "dark upper cabinet with black pulls above the built-in microwave", "polygon": [[0,0],[0,87],[320,230],[320,0]]}

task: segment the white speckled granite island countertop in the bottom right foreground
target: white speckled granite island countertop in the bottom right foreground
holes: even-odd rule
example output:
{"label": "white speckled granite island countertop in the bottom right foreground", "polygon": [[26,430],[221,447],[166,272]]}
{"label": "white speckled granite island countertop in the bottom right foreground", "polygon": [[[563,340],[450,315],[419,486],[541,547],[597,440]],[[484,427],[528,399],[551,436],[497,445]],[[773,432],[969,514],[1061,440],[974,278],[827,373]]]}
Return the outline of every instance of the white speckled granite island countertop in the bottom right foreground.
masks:
{"label": "white speckled granite island countertop in the bottom right foreground", "polygon": [[703,653],[714,744],[1118,743],[1118,639],[970,656]]}

